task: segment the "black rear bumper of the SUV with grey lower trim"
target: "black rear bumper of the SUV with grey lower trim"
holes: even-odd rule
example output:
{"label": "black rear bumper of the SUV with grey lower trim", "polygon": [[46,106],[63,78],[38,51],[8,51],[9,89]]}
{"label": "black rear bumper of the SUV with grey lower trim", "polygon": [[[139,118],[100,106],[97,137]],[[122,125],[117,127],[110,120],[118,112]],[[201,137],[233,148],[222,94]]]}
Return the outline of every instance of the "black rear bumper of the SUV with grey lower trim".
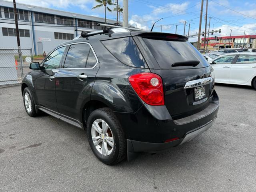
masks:
{"label": "black rear bumper of the SUV with grey lower trim", "polygon": [[[212,126],[218,109],[214,91],[204,110],[177,120],[159,120],[144,106],[133,114],[116,112],[126,134],[128,160],[135,152],[158,152],[189,142]],[[178,139],[168,142],[174,138]]]}

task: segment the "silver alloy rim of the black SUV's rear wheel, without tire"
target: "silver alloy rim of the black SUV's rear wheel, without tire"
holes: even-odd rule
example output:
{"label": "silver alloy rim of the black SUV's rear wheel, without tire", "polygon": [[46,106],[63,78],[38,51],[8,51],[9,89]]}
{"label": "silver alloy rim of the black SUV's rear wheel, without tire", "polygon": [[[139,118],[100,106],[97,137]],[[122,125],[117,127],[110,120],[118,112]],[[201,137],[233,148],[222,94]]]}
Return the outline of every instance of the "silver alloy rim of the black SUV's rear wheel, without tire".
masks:
{"label": "silver alloy rim of the black SUV's rear wheel, without tire", "polygon": [[92,123],[91,135],[92,142],[100,154],[108,156],[112,153],[114,148],[114,137],[110,126],[108,126],[104,120],[96,119]]}

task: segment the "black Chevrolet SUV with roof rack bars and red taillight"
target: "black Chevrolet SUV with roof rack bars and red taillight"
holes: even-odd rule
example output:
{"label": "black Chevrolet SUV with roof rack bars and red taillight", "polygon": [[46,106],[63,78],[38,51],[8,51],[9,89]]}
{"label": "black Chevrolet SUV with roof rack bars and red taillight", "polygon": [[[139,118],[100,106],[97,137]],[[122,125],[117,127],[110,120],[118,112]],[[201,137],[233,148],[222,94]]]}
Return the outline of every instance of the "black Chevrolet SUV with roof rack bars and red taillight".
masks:
{"label": "black Chevrolet SUV with roof rack bars and red taillight", "polygon": [[84,35],[30,69],[21,86],[28,115],[43,111],[86,129],[105,164],[188,142],[218,112],[214,71],[185,36]]}

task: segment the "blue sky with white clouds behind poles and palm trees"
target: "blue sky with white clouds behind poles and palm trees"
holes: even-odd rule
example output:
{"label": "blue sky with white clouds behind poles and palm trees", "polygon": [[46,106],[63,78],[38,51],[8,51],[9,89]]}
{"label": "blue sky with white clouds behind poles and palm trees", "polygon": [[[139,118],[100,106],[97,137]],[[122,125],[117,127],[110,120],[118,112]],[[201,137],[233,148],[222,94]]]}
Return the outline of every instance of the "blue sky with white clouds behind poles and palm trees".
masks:
{"label": "blue sky with white clouds behind poles and palm trees", "polygon": [[[112,0],[112,2],[116,0]],[[64,10],[79,14],[104,18],[104,9],[92,10],[98,3],[95,0],[16,0],[17,3],[32,4],[56,10]],[[122,0],[118,0],[122,7]],[[113,10],[114,6],[109,6]],[[129,24],[134,27],[150,30],[152,24],[163,18],[154,26],[156,32],[196,34],[199,28],[201,0],[129,0]],[[206,0],[204,0],[201,32],[205,28]],[[116,20],[116,12],[107,12],[108,19]],[[256,1],[255,0],[208,0],[207,24],[210,30],[219,30],[213,36],[254,34],[256,35]],[[122,21],[122,14],[121,14]],[[207,26],[208,31],[208,26]],[[210,35],[212,36],[212,35]],[[197,37],[190,37],[190,42],[197,41]]]}

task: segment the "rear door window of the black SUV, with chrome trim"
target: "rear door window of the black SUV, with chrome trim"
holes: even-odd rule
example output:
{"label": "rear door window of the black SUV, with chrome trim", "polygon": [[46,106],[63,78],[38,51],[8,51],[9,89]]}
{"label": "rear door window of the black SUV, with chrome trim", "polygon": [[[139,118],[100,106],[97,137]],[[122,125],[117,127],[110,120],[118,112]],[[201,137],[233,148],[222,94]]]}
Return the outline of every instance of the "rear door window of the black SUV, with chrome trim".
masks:
{"label": "rear door window of the black SUV, with chrome trim", "polygon": [[70,45],[64,68],[88,68],[96,64],[96,58],[88,44]]}

